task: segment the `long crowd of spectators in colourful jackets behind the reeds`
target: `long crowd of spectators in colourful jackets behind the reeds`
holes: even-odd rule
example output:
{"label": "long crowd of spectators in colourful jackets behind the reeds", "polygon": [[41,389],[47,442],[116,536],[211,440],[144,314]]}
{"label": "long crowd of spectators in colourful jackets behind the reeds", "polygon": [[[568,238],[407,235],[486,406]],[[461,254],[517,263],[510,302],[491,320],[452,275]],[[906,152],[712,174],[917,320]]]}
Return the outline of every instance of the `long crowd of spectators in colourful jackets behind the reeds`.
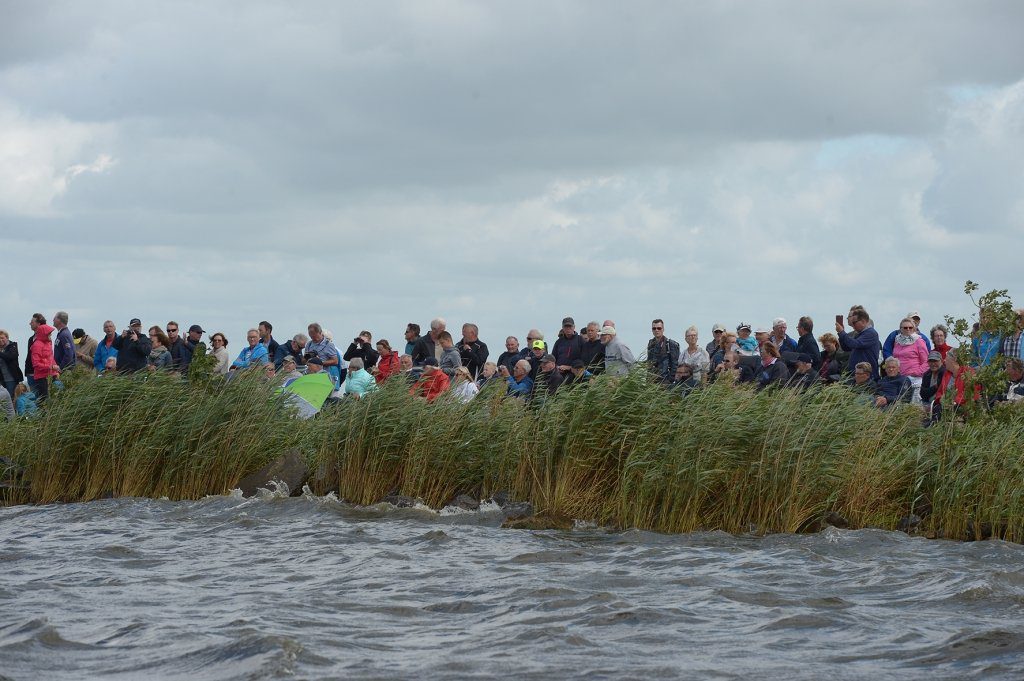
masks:
{"label": "long crowd of spectators in colourful jackets behind the reeds", "polygon": [[[1021,331],[1024,309],[1018,310],[1016,333],[999,336],[976,330],[972,356],[976,366],[1005,364],[1008,385],[993,399],[1024,400],[1024,355]],[[103,323],[102,335],[91,337],[83,329],[71,331],[69,314],[58,311],[48,323],[41,313],[33,314],[24,357],[17,343],[0,330],[0,416],[31,416],[47,399],[51,386],[59,387],[60,376],[77,367],[97,374],[136,372],[177,372],[186,375],[193,356],[202,348],[212,357],[212,371],[230,380],[246,371],[260,371],[288,383],[302,375],[325,372],[334,383],[337,398],[361,397],[385,381],[396,377],[409,382],[412,394],[434,400],[451,392],[462,400],[472,399],[492,381],[505,385],[508,395],[532,401],[560,389],[588,383],[594,376],[622,376],[636,366],[649,372],[652,380],[669,390],[687,395],[718,380],[751,383],[758,389],[771,387],[807,390],[817,384],[843,382],[865,395],[880,409],[898,402],[921,405],[930,420],[944,410],[961,408],[981,398],[974,380],[976,369],[962,364],[947,343],[943,325],[926,334],[921,315],[910,312],[885,340],[867,311],[860,305],[847,315],[837,315],[835,333],[814,336],[814,322],[802,316],[797,337],[788,334],[782,317],[770,327],[753,327],[741,322],[735,330],[716,324],[713,339],[701,345],[698,330],[689,327],[683,343],[667,335],[666,324],[651,323],[651,338],[638,357],[620,338],[612,320],[588,323],[582,332],[571,316],[549,345],[544,334],[530,329],[524,344],[518,337],[505,339],[505,351],[490,358],[475,324],[462,325],[456,341],[443,318],[432,320],[421,333],[418,324],[406,327],[403,344],[373,339],[369,331],[352,338],[344,352],[334,337],[317,323],[305,333],[279,342],[273,326],[260,322],[246,334],[244,347],[231,357],[228,339],[221,332],[208,335],[191,325],[182,332],[176,322],[143,330],[132,318],[118,331],[114,322]],[[849,327],[849,328],[847,328]]]}

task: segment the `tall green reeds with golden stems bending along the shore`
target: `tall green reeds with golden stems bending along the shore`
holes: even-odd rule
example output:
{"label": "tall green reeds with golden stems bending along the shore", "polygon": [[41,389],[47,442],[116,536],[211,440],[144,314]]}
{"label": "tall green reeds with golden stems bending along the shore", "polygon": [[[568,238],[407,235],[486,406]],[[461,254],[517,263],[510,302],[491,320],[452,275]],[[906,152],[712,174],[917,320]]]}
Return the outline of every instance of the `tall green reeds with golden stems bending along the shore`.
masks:
{"label": "tall green reeds with golden stems bending along the shore", "polygon": [[925,533],[1024,542],[1022,410],[924,429],[912,408],[879,412],[839,387],[680,399],[635,374],[532,408],[495,388],[427,405],[395,383],[303,422],[258,377],[83,379],[38,420],[0,427],[29,485],[0,503],[197,499],[298,446],[314,492],[357,504],[504,490],[552,515],[670,533],[816,529],[829,512],[895,528],[930,506]]}

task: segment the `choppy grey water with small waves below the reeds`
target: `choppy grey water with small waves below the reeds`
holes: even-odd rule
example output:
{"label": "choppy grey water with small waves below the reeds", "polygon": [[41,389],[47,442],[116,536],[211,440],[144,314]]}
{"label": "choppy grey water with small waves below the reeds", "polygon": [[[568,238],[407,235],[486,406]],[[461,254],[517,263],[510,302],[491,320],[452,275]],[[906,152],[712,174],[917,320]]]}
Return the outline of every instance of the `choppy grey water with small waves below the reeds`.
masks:
{"label": "choppy grey water with small waves below the reeds", "polygon": [[326,498],[0,509],[0,677],[1024,677],[1024,547],[500,529]]}

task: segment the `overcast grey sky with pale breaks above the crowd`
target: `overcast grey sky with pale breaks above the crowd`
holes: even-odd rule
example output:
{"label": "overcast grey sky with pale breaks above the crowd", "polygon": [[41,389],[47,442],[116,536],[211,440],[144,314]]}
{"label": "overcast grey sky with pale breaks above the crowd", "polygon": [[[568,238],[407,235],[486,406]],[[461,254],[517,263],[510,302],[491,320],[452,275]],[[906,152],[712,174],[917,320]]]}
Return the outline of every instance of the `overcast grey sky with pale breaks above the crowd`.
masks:
{"label": "overcast grey sky with pale breaks above the crowd", "polygon": [[0,0],[0,328],[1024,298],[1024,3]]}

